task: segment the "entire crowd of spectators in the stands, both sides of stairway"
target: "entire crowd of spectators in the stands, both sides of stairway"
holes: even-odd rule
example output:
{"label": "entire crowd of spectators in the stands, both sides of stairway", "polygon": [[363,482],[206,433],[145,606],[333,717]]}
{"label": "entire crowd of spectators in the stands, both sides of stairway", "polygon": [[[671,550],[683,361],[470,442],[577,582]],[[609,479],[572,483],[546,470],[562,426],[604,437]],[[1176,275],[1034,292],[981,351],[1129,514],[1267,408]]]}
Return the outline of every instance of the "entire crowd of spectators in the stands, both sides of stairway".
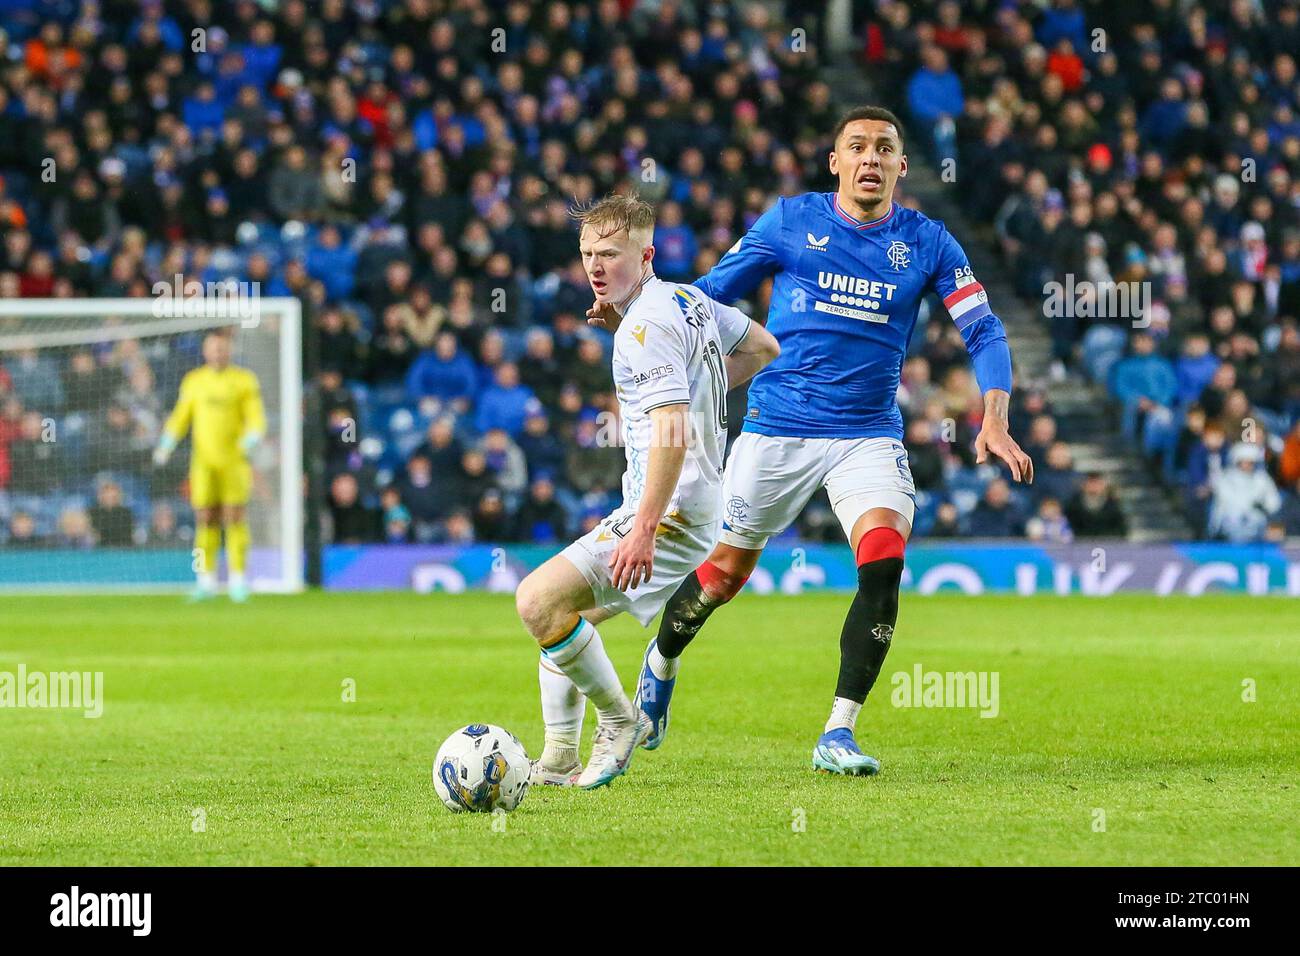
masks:
{"label": "entire crowd of spectators in the stands, both sides of stairway", "polygon": [[[334,541],[560,541],[616,502],[608,342],[584,323],[569,203],[637,189],[659,207],[658,274],[690,281],[776,196],[832,189],[842,104],[816,36],[792,42],[807,4],[786,4],[789,22],[770,4],[670,0],[103,0],[23,16],[36,7],[4,4],[0,294],[146,297],[183,273],[300,297]],[[1266,29],[1249,3],[1212,23],[1171,1],[1112,7],[1113,48],[1093,53],[1093,14],[1072,0],[884,0],[866,62],[905,99],[914,151],[993,170],[961,179],[962,202],[997,224],[1026,297],[1069,272],[1154,284],[1140,332],[1053,320],[1057,373],[1108,384],[1205,533],[1300,533],[1294,496],[1273,499],[1300,481],[1295,8]],[[900,402],[919,535],[1124,533],[1114,489],[1058,441],[1049,390],[1018,389],[1013,433],[1039,477],[1011,488],[974,464],[983,406],[941,308],[913,346]],[[183,533],[183,507],[150,494],[174,392],[148,351],[0,356],[0,536]],[[14,509],[31,476],[73,467],[40,433],[73,412],[99,449],[66,483],[81,505]],[[1213,507],[1243,489],[1265,527]],[[796,531],[840,537],[824,499]]]}

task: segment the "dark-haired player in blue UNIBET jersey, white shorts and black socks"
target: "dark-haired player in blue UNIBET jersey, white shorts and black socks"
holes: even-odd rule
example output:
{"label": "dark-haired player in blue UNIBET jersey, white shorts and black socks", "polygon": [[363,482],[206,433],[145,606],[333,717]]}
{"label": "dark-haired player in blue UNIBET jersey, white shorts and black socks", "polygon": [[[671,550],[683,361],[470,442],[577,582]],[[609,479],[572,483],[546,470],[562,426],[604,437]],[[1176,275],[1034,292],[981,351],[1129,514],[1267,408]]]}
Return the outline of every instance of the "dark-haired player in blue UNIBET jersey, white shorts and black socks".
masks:
{"label": "dark-haired player in blue UNIBET jersey, white shorts and black socks", "polygon": [[[733,598],[763,546],[824,486],[858,563],[858,592],[840,635],[840,679],[812,765],[875,774],[854,740],[898,615],[904,545],[915,488],[896,393],[920,299],[933,290],[961,330],[984,393],[976,460],[1000,458],[1032,481],[1028,455],[1008,433],[1011,355],[1002,323],[962,247],[942,222],[893,202],[907,174],[902,126],[861,107],[840,121],[831,173],[836,193],[779,199],[696,285],[719,302],[774,277],[767,329],[780,358],[755,376],[749,412],[727,462],[724,524],[708,559],[668,600],[646,650],[637,702],[663,741],[679,657],[708,615]],[[602,324],[598,310],[589,313]]]}

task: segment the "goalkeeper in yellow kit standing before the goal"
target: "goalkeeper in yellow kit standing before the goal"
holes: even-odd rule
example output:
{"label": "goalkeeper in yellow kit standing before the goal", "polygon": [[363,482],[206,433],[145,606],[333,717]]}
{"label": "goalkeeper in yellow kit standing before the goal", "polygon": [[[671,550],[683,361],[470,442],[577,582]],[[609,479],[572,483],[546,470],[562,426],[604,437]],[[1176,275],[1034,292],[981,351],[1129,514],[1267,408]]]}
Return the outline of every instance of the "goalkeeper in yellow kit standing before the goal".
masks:
{"label": "goalkeeper in yellow kit standing before the goal", "polygon": [[230,598],[248,600],[248,522],[246,506],[252,490],[248,453],[266,432],[257,377],[230,364],[230,338],[212,333],[203,339],[203,362],[181,380],[181,395],[162,427],[153,463],[166,464],[177,444],[194,429],[190,455],[190,503],[194,506],[194,544],[199,554],[194,600],[217,591],[217,551],[221,527],[226,529],[226,564]]}

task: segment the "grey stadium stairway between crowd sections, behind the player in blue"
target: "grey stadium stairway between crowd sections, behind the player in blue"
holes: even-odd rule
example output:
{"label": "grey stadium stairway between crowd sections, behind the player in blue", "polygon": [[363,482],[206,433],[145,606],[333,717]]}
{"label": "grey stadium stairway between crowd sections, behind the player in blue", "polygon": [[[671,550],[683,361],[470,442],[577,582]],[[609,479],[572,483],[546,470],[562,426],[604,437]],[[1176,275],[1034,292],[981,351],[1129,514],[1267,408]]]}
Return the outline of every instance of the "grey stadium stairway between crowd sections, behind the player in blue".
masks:
{"label": "grey stadium stairway between crowd sections, behind the player in blue", "polygon": [[[845,55],[823,74],[837,103],[889,103],[878,95],[853,55]],[[1075,468],[1087,473],[1097,471],[1110,479],[1128,522],[1130,541],[1170,541],[1195,537],[1173,492],[1145,463],[1138,449],[1119,434],[1119,415],[1101,385],[1087,381],[1078,372],[1065,380],[1052,381],[1052,342],[1046,328],[1035,313],[1032,303],[1015,294],[998,261],[993,233],[979,225],[953,202],[952,185],[940,179],[930,160],[919,151],[909,153],[906,191],[920,202],[926,213],[944,220],[953,233],[962,237],[971,267],[988,290],[989,302],[1006,325],[1006,334],[1015,359],[1017,380],[1040,382],[1048,394],[1057,419],[1058,437],[1070,445]],[[976,241],[971,241],[975,237]],[[1062,502],[1063,503],[1063,502]]]}

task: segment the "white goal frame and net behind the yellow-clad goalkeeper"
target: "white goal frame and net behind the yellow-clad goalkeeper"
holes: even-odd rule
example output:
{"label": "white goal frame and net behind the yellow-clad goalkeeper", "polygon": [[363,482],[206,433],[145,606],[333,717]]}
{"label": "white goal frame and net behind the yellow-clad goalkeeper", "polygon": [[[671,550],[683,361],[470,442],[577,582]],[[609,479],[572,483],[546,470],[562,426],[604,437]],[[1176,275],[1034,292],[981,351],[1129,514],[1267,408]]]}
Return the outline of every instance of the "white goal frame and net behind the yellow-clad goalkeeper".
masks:
{"label": "white goal frame and net behind the yellow-clad goalkeeper", "polygon": [[300,304],[196,295],[0,302],[0,592],[194,584],[191,440],[161,467],[152,453],[213,330],[266,410],[248,583],[302,588]]}

